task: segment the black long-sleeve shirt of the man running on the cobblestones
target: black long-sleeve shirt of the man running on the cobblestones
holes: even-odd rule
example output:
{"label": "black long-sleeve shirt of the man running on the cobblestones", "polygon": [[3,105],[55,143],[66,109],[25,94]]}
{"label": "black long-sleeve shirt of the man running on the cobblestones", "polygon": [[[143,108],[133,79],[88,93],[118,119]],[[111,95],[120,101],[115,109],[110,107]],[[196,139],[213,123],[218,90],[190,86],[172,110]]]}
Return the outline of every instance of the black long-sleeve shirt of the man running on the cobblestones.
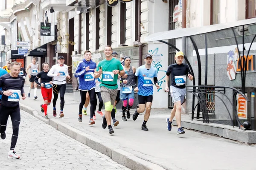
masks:
{"label": "black long-sleeve shirt of the man running on the cobblestones", "polygon": [[[20,95],[23,95],[24,89],[23,89],[24,79],[21,76],[18,77],[12,77],[9,73],[5,74],[0,77],[0,87],[2,87],[2,90],[0,91],[0,94],[3,94],[3,91],[8,90],[20,90]],[[19,102],[10,102],[8,101],[8,96],[2,95],[2,105],[7,107],[14,107],[19,105]]]}

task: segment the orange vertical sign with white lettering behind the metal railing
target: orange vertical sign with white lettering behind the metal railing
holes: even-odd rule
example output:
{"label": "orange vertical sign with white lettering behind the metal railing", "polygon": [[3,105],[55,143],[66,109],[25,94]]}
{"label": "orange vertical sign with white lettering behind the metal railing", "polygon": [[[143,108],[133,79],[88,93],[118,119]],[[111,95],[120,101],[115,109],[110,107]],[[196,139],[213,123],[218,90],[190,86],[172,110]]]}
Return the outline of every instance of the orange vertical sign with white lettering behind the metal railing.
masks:
{"label": "orange vertical sign with white lettering behind the metal railing", "polygon": [[[237,94],[237,116],[239,119],[247,119],[247,100],[241,95]],[[247,94],[245,94],[247,96]]]}

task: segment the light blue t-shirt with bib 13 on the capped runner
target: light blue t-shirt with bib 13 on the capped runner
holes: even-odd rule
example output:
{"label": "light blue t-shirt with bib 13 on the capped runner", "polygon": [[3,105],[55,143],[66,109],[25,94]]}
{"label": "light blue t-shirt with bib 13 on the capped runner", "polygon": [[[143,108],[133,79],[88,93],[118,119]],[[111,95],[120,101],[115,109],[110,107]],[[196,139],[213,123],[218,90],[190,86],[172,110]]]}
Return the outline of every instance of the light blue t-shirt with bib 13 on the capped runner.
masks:
{"label": "light blue t-shirt with bib 13 on the capped runner", "polygon": [[145,68],[145,65],[140,66],[135,73],[138,78],[138,95],[149,96],[153,94],[154,77],[157,77],[157,69],[152,67]]}

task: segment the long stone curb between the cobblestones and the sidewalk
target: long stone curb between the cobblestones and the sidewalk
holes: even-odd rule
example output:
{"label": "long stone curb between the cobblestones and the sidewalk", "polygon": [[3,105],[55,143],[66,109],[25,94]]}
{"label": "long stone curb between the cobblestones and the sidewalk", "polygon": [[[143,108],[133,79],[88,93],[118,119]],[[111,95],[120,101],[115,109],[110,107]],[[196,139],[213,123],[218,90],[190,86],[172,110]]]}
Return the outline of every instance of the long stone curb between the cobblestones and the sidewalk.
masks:
{"label": "long stone curb between the cobblestones and the sidewalk", "polygon": [[31,114],[32,116],[35,116],[37,119],[47,123],[48,125],[51,125],[65,135],[70,136],[88,147],[109,156],[113,161],[116,161],[117,163],[122,164],[131,170],[166,170],[157,164],[141,159],[132,153],[120,149],[111,142],[104,142],[61,121],[55,119],[44,119],[43,116],[38,114],[38,111],[21,103],[20,109]]}

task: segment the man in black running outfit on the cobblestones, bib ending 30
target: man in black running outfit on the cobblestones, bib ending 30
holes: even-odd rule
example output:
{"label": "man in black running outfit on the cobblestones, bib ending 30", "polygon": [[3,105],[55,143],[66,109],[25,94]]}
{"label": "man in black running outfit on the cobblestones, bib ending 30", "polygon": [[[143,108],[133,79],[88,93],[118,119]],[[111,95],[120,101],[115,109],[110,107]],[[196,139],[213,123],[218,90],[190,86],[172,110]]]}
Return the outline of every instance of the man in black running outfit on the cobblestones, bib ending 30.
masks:
{"label": "man in black running outfit on the cobblestones, bib ending 30", "polygon": [[18,62],[12,62],[10,65],[10,73],[5,74],[0,77],[0,87],[2,90],[2,105],[0,106],[0,133],[1,138],[6,138],[6,125],[9,118],[9,115],[12,119],[12,143],[11,148],[8,153],[8,158],[19,159],[20,156],[17,156],[14,152],[14,148],[18,139],[19,134],[19,125],[20,125],[20,97],[26,99],[26,94],[23,90],[23,77],[19,76],[20,65]]}

